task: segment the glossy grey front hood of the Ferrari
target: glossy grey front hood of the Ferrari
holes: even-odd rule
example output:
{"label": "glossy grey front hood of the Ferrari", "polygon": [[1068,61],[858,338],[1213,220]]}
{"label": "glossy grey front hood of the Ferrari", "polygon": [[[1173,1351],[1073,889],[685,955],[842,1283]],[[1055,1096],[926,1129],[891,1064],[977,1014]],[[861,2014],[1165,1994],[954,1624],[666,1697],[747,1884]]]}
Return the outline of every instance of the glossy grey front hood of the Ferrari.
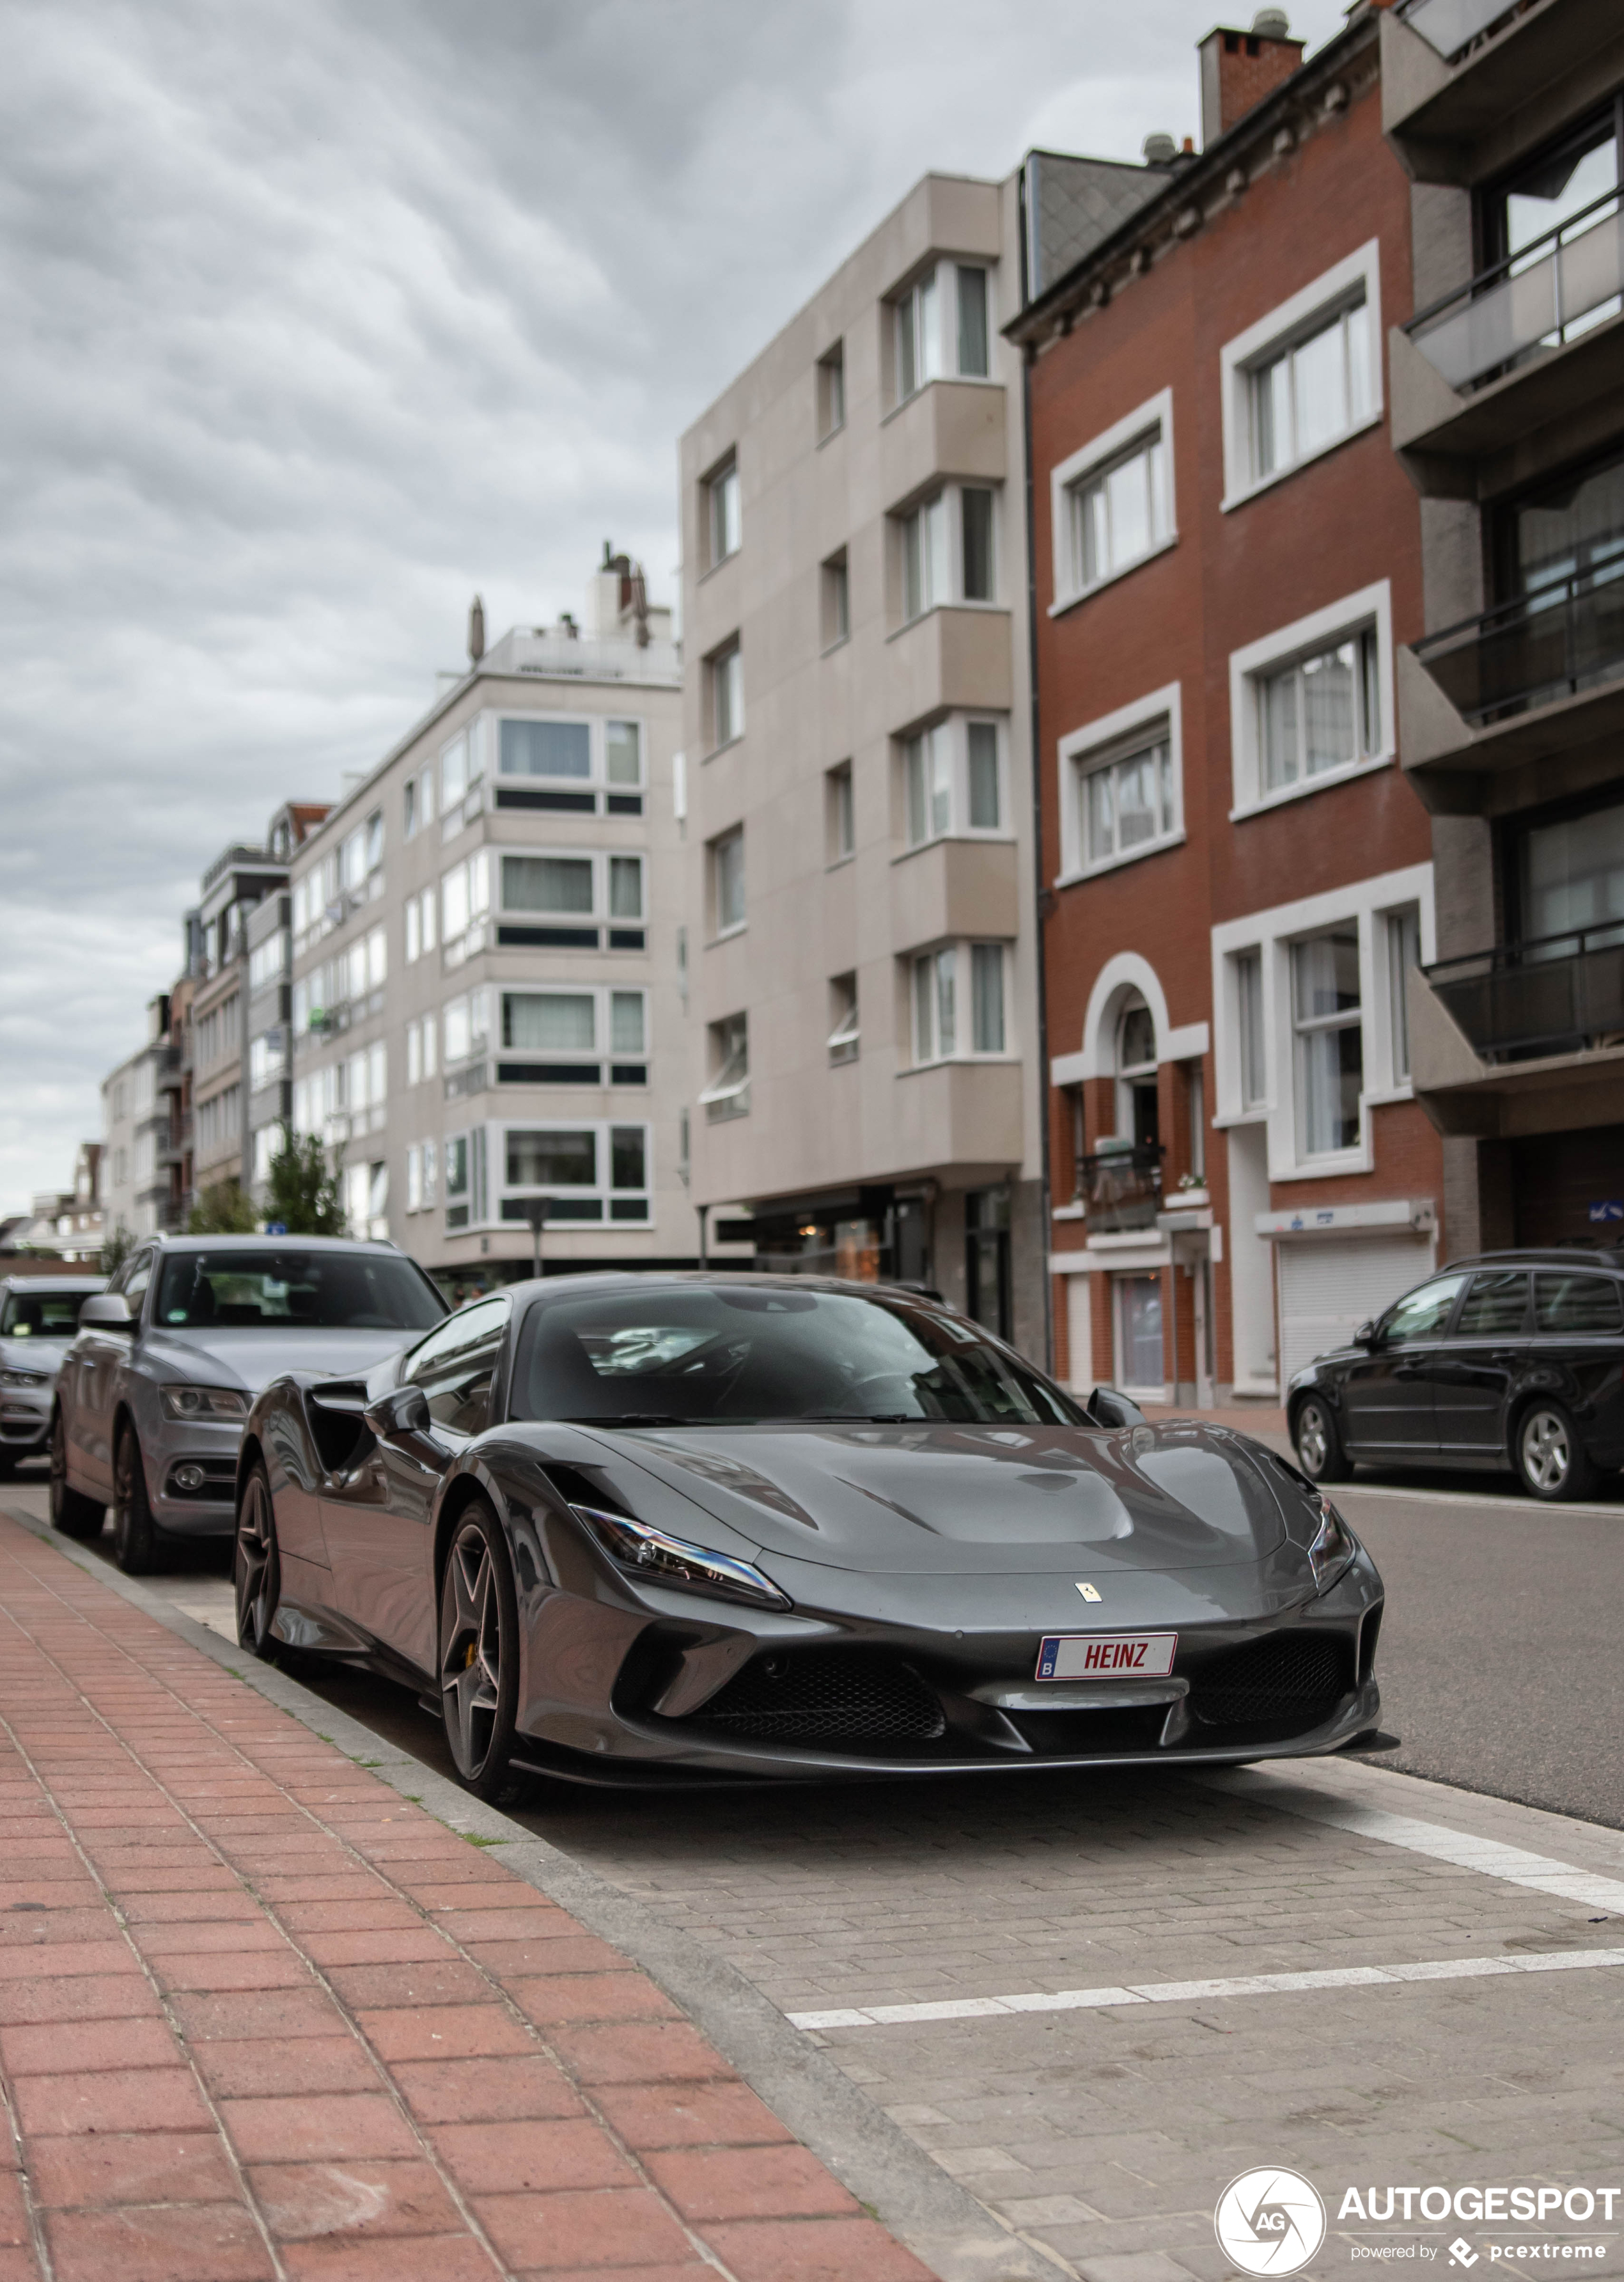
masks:
{"label": "glossy grey front hood of the Ferrari", "polygon": [[1264,1561],[1280,1502],[1209,1426],[682,1426],[604,1435],[764,1554],[871,1575]]}

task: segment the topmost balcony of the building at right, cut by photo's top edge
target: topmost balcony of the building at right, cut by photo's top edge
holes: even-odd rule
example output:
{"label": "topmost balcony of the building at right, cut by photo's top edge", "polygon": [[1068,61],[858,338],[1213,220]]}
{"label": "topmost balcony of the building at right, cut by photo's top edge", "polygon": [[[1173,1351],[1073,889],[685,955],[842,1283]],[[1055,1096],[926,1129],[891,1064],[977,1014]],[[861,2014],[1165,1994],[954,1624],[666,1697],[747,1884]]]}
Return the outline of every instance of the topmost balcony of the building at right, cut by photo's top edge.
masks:
{"label": "topmost balcony of the building at right, cut by photo's top edge", "polygon": [[[1585,0],[1407,0],[1382,14],[1382,128],[1416,183],[1473,183],[1617,75],[1617,23]],[[1565,87],[1581,80],[1583,84]]]}

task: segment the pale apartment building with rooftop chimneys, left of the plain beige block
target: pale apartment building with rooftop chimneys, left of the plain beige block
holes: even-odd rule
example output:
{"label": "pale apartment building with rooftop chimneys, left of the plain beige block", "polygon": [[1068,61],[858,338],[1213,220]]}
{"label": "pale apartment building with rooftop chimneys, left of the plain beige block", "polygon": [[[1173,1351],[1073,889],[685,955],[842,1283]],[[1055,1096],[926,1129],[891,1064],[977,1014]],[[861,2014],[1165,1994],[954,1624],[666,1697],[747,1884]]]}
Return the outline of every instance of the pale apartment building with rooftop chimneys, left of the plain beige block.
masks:
{"label": "pale apartment building with rooftop chimneys, left of the plain beige block", "polygon": [[584,625],[515,628],[294,849],[292,1116],[354,1235],[456,1289],[696,1260],[682,682],[609,557]]}

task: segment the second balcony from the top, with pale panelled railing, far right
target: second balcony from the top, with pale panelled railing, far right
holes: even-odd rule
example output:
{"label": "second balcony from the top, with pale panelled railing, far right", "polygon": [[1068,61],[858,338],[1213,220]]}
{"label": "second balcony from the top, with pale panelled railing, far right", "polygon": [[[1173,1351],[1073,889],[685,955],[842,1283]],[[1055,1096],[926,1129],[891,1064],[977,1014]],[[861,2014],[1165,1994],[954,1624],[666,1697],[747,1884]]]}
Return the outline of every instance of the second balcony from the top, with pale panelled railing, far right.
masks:
{"label": "second balcony from the top, with pale panelled railing, far right", "polygon": [[[1476,497],[1562,456],[1567,424],[1617,388],[1622,297],[1624,215],[1608,192],[1394,331],[1394,450],[1421,488]],[[1480,466],[1496,454],[1505,466]]]}

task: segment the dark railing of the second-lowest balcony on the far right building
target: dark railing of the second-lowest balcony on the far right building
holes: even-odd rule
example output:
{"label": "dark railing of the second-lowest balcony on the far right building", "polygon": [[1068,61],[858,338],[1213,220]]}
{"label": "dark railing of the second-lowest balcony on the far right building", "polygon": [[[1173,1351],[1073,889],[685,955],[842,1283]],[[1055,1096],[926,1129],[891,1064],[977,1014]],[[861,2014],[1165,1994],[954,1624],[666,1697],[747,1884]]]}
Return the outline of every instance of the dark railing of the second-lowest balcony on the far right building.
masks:
{"label": "dark railing of the second-lowest balcony on the far right building", "polygon": [[1619,550],[1617,561],[1416,641],[1414,655],[1464,721],[1501,721],[1624,673],[1624,534]]}

